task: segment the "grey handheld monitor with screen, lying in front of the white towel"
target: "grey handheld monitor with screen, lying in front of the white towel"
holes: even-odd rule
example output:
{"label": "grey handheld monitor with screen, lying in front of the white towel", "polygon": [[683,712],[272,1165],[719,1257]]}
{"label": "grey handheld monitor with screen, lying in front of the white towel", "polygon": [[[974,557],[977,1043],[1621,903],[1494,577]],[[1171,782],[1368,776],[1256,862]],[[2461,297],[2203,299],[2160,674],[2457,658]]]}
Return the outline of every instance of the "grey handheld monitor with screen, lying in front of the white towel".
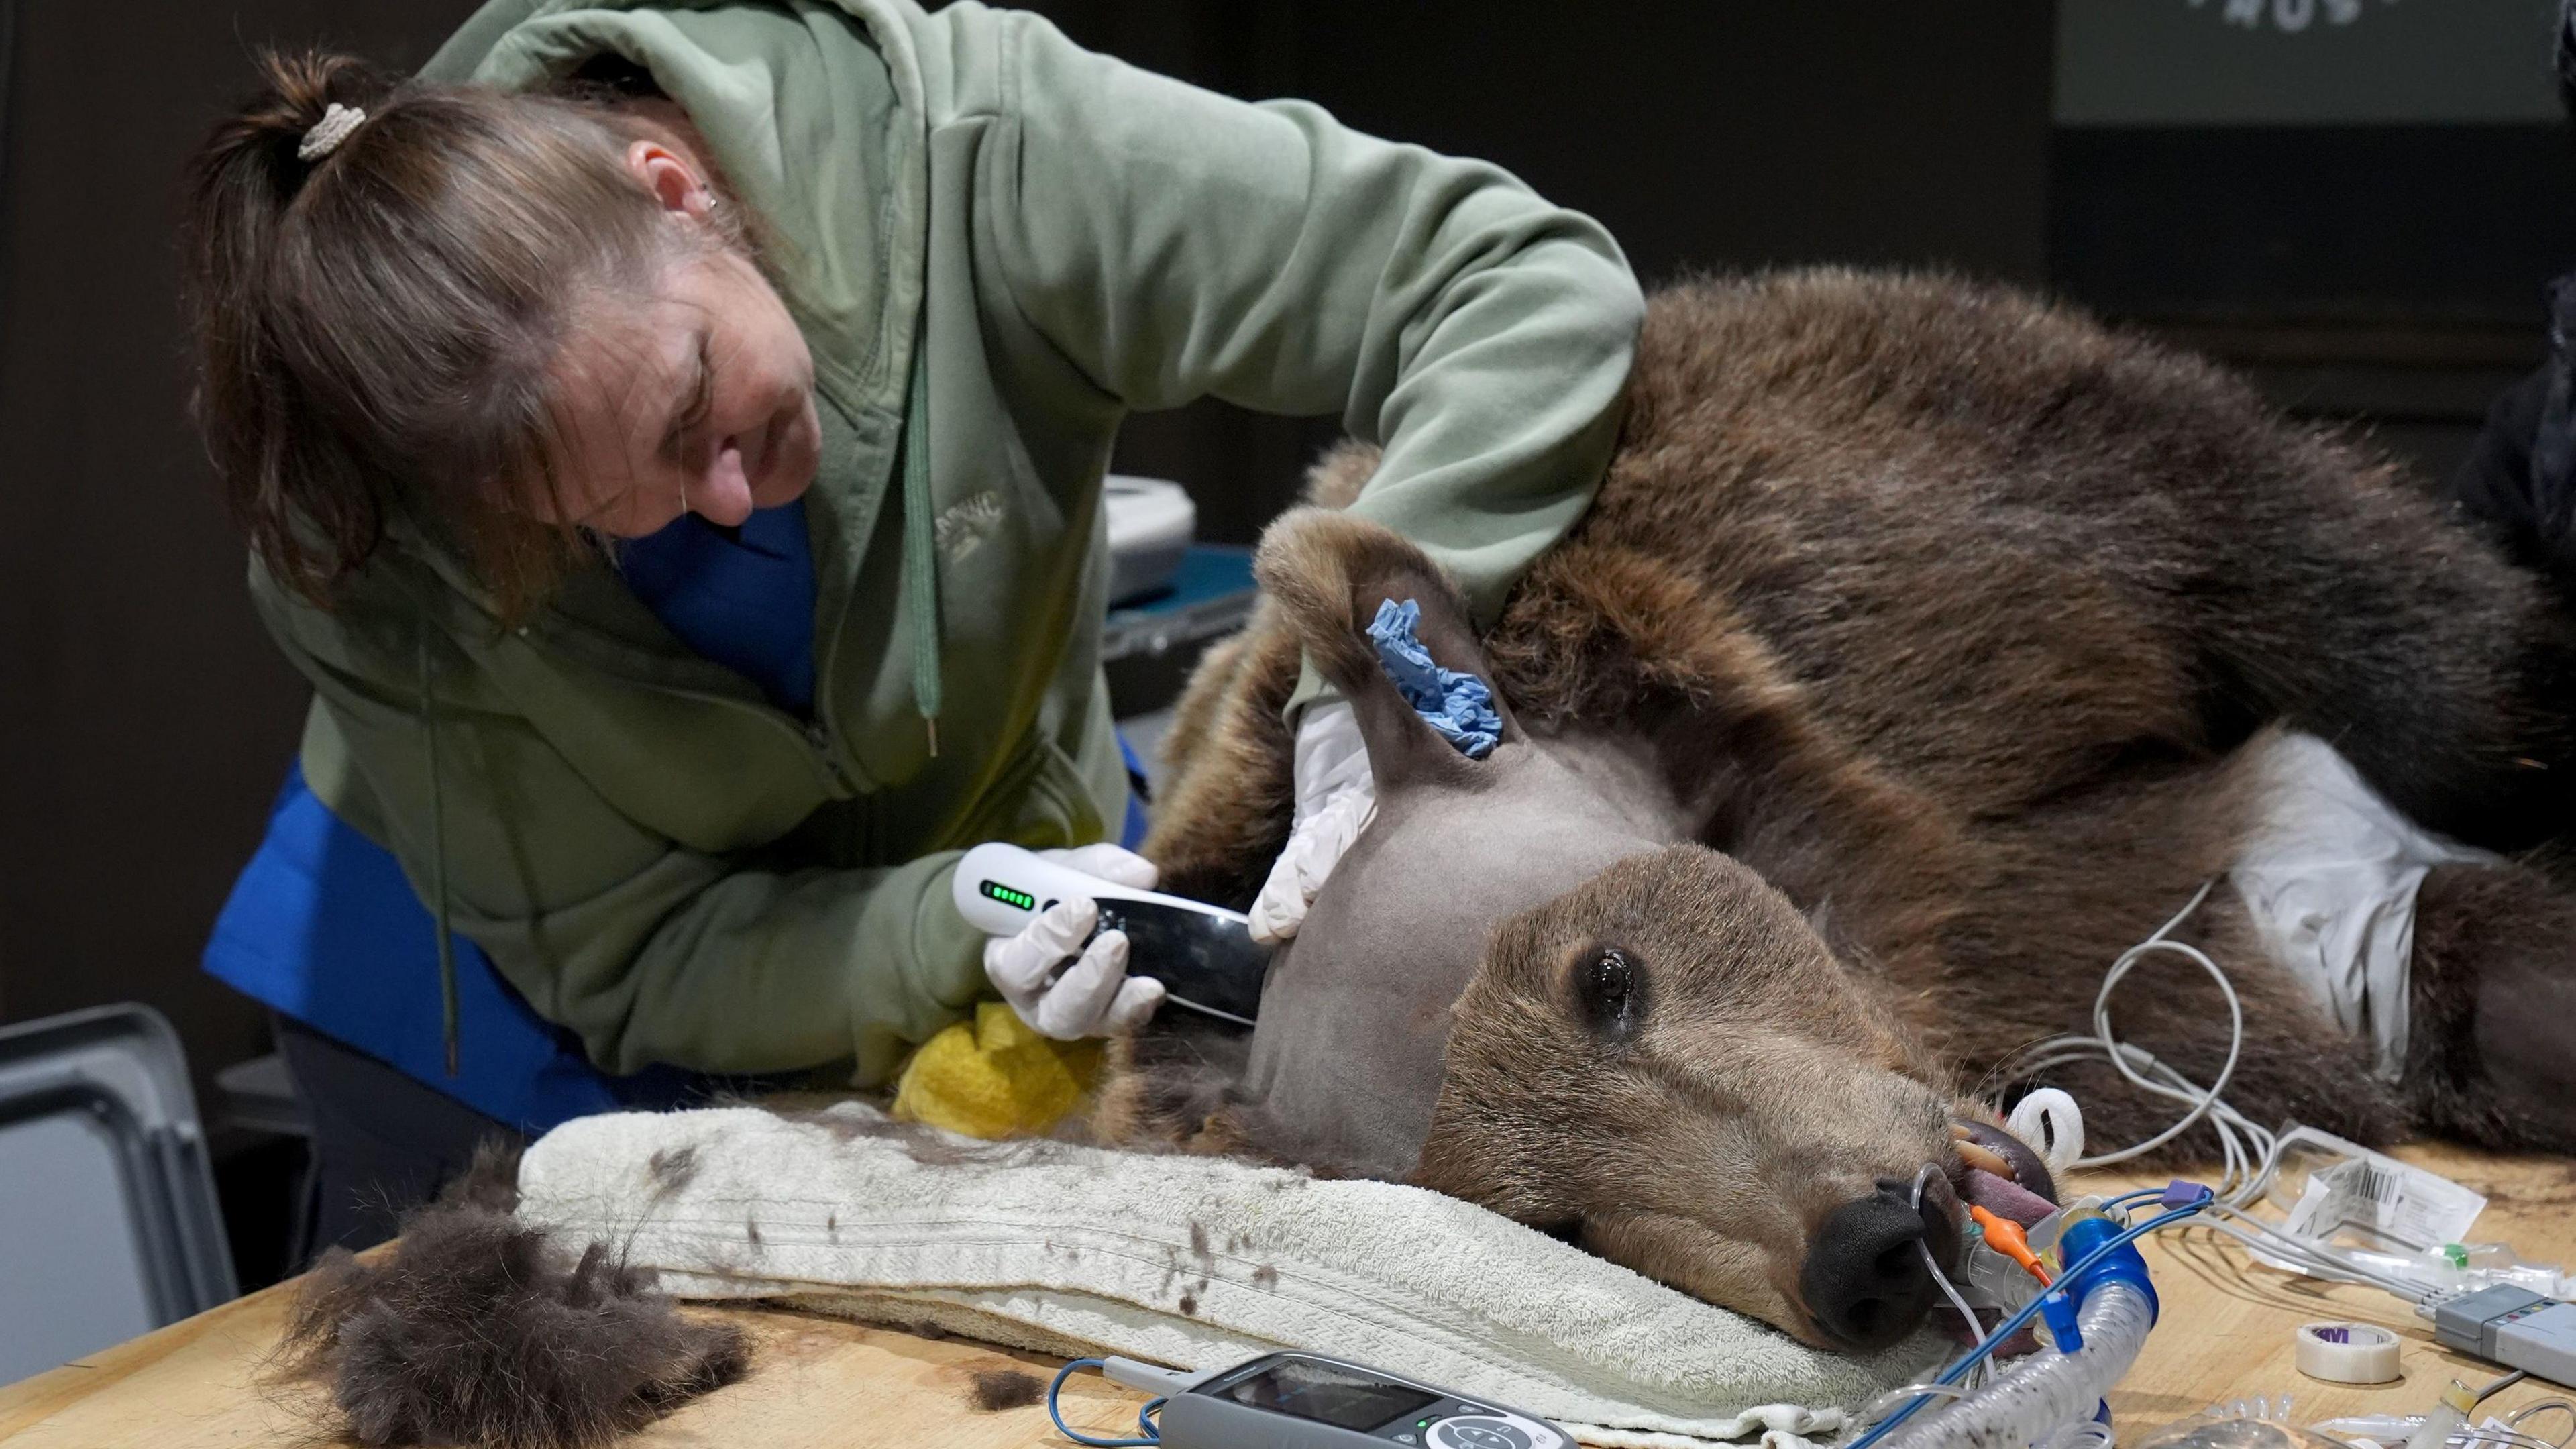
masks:
{"label": "grey handheld monitor with screen, lying in front of the white towel", "polygon": [[[1133,1359],[1074,1359],[1056,1387],[1082,1364],[1100,1364],[1113,1382],[1162,1392],[1146,1405],[1146,1436],[1077,1444],[1157,1444],[1162,1449],[1574,1449],[1574,1436],[1535,1413],[1489,1397],[1453,1395],[1432,1385],[1327,1359],[1321,1354],[1262,1354],[1213,1374],[1180,1374]],[[1157,1408],[1159,1405],[1159,1408]],[[1046,1395],[1056,1410],[1054,1387]],[[1151,1415],[1151,1418],[1146,1418]]]}

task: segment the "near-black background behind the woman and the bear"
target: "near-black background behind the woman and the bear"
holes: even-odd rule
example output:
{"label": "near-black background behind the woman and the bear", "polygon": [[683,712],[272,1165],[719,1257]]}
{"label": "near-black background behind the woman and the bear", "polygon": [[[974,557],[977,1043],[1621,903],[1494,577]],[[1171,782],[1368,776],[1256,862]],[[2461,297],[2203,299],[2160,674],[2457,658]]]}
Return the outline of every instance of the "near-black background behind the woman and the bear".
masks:
{"label": "near-black background behind the woman and the bear", "polygon": [[[2187,44],[2223,23],[2125,3],[2200,26]],[[2367,5],[2354,34],[2396,13]],[[268,1049],[196,957],[304,691],[250,614],[185,425],[175,178],[255,44],[415,64],[471,8],[0,0],[0,1021],[147,1000],[180,1026],[201,1101],[209,1073]],[[2045,0],[1038,8],[1154,70],[1492,157],[1607,222],[1649,284],[1842,260],[2053,286],[2427,469],[2537,361],[2540,286],[2576,250],[2576,168],[2530,106],[2061,126]],[[2342,44],[2254,31],[2306,46],[2300,64]],[[2540,26],[2535,67],[2545,49]],[[1327,438],[1206,405],[1136,420],[1121,467],[1188,482],[1203,536],[1249,541]]]}

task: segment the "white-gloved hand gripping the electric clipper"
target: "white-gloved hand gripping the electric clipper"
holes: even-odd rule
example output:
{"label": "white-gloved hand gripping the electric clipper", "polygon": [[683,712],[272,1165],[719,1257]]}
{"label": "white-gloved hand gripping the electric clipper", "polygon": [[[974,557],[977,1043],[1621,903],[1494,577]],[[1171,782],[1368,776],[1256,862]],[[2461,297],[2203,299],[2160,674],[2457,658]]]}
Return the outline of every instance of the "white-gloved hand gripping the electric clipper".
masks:
{"label": "white-gloved hand gripping the electric clipper", "polygon": [[[1082,874],[1154,890],[1154,861],[1136,851],[1077,846],[1038,853]],[[1126,931],[1092,936],[1092,926],[1100,926],[1100,905],[1072,897],[1041,910],[1018,936],[984,941],[984,975],[1041,1036],[1077,1042],[1126,1034],[1162,1006],[1159,980],[1126,975]],[[1090,946],[1082,944],[1084,936],[1092,936]]]}

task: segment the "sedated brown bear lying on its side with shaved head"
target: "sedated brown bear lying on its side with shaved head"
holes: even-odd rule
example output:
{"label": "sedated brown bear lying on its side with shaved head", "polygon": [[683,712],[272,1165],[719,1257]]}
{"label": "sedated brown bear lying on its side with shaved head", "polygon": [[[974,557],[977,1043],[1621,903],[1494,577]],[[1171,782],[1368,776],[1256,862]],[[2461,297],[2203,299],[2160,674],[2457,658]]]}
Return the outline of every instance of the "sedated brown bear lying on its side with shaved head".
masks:
{"label": "sedated brown bear lying on its side with shaved head", "polygon": [[[1146,853],[1249,902],[1301,655],[1355,704],[1376,820],[1260,1026],[1164,1013],[1113,1060],[1103,1137],[1425,1183],[1806,1341],[1888,1343],[1932,1299],[1914,1243],[1955,1243],[1947,1191],[1911,1207],[1924,1165],[2050,1191],[1978,1088],[2089,1031],[2102,967],[2228,874],[2254,761],[2298,730],[2496,856],[2419,890],[2396,1080],[2213,890],[2177,936],[2244,1000],[2226,1096],[2362,1142],[2576,1147],[2548,856],[2576,833],[2576,627],[2365,449],[2014,291],[1806,271],[1654,299],[1600,498],[1492,627],[1332,508],[1368,464],[1327,459],[1270,529]],[[1484,761],[1381,673],[1386,598],[1492,681]],[[2192,1080],[2223,1065],[2197,975],[2141,977],[2115,1018]],[[2097,1140],[2174,1114],[2061,1078]]]}

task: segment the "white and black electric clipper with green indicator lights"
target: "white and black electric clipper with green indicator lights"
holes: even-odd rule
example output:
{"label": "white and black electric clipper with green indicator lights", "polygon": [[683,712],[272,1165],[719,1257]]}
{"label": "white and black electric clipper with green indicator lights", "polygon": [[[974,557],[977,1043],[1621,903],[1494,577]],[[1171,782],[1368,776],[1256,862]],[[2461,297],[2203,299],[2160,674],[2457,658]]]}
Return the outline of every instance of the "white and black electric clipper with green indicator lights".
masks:
{"label": "white and black electric clipper with green indicator lights", "polygon": [[1108,882],[999,841],[966,851],[951,892],[958,915],[989,936],[1015,936],[1048,905],[1090,897],[1100,931],[1126,931],[1128,969],[1159,980],[1172,1006],[1236,1026],[1252,1026],[1262,1008],[1270,946],[1252,941],[1252,918],[1239,910]]}

